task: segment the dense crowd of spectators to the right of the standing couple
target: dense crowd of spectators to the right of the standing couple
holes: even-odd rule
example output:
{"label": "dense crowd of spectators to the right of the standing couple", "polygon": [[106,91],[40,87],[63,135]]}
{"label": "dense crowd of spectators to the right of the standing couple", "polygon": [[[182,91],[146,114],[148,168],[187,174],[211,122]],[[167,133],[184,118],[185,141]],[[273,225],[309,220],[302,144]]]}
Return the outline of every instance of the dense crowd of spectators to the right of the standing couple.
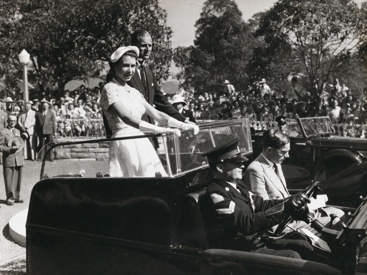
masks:
{"label": "dense crowd of spectators to the right of the standing couple", "polygon": [[[267,129],[276,117],[300,118],[329,116],[339,135],[365,137],[367,129],[367,89],[361,96],[355,95],[345,84],[325,85],[320,96],[310,92],[298,98],[288,98],[273,91],[265,79],[256,81],[247,90],[236,91],[223,82],[223,91],[196,96],[184,92],[186,108],[195,119],[217,120],[249,118],[259,130]],[[168,96],[169,97],[169,96]]]}

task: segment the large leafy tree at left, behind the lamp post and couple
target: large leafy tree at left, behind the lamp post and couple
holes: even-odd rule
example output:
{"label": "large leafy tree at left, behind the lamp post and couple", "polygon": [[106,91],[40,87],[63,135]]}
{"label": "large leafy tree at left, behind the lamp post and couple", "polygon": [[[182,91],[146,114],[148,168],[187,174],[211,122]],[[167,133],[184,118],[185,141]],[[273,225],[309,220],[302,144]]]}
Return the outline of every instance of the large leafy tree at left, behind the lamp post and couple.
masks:
{"label": "large leafy tree at left, behind the lamp post and couple", "polygon": [[41,91],[63,90],[70,80],[98,75],[140,28],[154,39],[150,66],[158,80],[168,77],[172,32],[158,0],[12,0],[2,1],[0,12],[0,77],[9,87],[21,78],[22,49],[31,55],[30,81]]}

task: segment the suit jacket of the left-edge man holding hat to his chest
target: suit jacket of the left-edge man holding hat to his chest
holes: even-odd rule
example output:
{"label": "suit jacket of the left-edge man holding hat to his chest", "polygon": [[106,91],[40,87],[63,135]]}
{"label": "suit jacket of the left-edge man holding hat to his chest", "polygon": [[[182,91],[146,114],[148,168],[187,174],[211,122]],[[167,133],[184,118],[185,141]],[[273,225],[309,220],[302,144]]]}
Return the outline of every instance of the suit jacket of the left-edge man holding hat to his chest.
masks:
{"label": "suit jacket of the left-edge man holding hat to his chest", "polygon": [[[18,129],[15,129],[15,135],[20,136],[20,131]],[[0,152],[2,152],[3,167],[23,166],[24,163],[23,150],[17,153],[10,153],[11,147],[8,147],[8,142],[13,136],[13,132],[8,128],[4,128],[0,131]]]}

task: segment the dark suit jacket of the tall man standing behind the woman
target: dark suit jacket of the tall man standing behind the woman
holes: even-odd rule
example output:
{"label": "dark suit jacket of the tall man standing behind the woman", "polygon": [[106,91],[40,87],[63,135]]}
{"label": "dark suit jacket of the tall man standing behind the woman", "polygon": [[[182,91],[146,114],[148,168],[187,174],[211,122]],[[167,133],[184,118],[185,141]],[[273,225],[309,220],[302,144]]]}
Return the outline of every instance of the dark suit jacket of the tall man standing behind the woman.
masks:
{"label": "dark suit jacket of the tall man standing behind the woman", "polygon": [[[158,111],[167,113],[169,116],[184,122],[186,118],[181,113],[177,112],[177,110],[167,101],[167,98],[159,89],[153,72],[146,66],[144,66],[144,72],[147,80],[148,93],[146,93],[144,90],[143,82],[141,81],[137,70],[135,70],[132,79],[127,82],[128,85],[138,90],[144,96],[147,102],[149,102],[150,105],[154,105]],[[146,115],[143,115],[142,119],[148,121]]]}

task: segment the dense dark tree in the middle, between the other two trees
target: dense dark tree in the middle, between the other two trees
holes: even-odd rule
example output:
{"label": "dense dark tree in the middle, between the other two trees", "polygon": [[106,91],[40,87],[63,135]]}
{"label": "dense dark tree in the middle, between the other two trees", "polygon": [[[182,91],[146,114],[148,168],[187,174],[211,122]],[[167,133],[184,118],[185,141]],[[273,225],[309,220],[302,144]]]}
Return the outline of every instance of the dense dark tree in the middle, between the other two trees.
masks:
{"label": "dense dark tree in the middle, between the other two trees", "polygon": [[241,90],[248,80],[245,68],[251,49],[259,43],[252,35],[253,24],[243,21],[233,0],[207,0],[195,27],[194,46],[175,49],[181,86],[213,92],[227,79]]}

